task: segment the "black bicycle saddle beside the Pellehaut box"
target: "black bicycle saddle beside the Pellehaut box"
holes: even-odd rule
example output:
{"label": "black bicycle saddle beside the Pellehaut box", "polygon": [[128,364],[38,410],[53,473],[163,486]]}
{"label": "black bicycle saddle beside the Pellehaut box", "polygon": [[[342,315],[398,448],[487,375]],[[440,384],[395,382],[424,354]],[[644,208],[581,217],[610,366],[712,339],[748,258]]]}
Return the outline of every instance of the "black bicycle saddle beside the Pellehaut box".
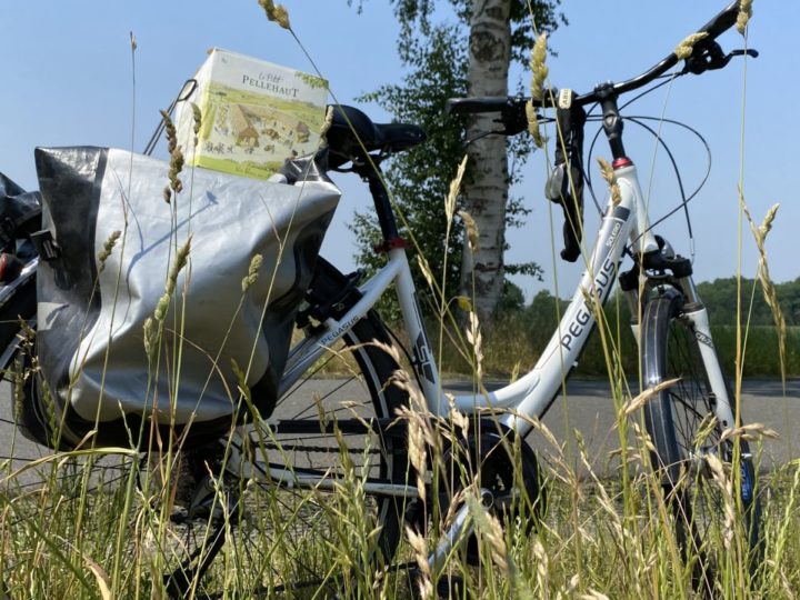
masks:
{"label": "black bicycle saddle beside the Pellehaut box", "polygon": [[[331,166],[338,167],[367,152],[399,152],[426,141],[422,129],[411,123],[373,123],[353,107],[334,106],[333,121],[328,130]],[[360,140],[360,141],[359,141]],[[362,148],[363,144],[363,148]]]}

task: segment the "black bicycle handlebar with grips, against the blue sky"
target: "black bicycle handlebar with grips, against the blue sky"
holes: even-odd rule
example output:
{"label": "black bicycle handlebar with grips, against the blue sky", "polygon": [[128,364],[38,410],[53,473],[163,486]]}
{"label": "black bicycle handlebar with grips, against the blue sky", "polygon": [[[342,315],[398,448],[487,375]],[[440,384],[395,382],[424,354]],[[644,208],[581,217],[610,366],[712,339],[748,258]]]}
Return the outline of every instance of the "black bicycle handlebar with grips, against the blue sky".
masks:
{"label": "black bicycle handlebar with grips, against the blue sky", "polygon": [[[707,33],[700,42],[696,44],[696,52],[708,51],[714,43],[713,40],[720,34],[728,31],[737,22],[739,14],[740,0],[733,0],[724,10],[706,23],[698,30],[698,33]],[[646,72],[622,81],[619,83],[603,83],[598,86],[591,92],[576,96],[572,100],[573,106],[586,106],[599,102],[604,98],[620,96],[622,93],[636,90],[647,86],[658,77],[666,73],[669,69],[678,64],[679,58],[674,52],[664,57]],[[687,59],[688,60],[688,59]],[[727,64],[727,60],[722,59],[720,67]],[[714,68],[709,64],[708,68]],[[694,72],[694,71],[692,71]],[[556,94],[553,94],[556,96]],[[446,112],[452,114],[473,114],[479,112],[506,112],[509,109],[524,108],[530,98],[523,97],[480,97],[480,98],[451,98],[447,101]],[[553,99],[551,94],[544,94],[542,100],[534,100],[533,106],[537,108],[553,108],[557,106],[558,99]]]}

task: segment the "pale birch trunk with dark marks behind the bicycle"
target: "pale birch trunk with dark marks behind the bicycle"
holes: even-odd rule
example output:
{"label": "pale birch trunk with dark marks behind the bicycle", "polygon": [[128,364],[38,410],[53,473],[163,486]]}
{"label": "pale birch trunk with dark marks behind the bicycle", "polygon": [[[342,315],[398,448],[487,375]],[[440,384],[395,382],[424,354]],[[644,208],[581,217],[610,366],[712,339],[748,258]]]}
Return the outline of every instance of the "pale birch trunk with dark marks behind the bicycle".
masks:
{"label": "pale birch trunk with dark marks behind the bicycle", "polygon": [[[511,0],[473,0],[470,19],[469,94],[507,96],[511,51]],[[468,129],[473,136],[497,129],[497,114],[477,116]],[[506,138],[490,136],[469,147],[473,177],[463,186],[464,209],[480,232],[478,250],[464,242],[462,293],[472,297],[481,322],[489,322],[500,301],[504,269],[508,161]]]}

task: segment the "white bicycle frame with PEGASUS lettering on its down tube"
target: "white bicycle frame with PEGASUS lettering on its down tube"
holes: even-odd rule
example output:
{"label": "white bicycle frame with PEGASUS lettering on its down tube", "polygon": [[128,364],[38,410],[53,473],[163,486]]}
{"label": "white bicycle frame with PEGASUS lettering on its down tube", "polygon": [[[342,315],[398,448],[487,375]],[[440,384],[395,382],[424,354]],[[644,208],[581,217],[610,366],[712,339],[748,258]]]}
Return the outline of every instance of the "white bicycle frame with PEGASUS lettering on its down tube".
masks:
{"label": "white bicycle frame with PEGASUS lettering on its down tube", "polygon": [[[516,382],[488,393],[456,396],[454,407],[467,414],[491,410],[499,421],[524,437],[533,427],[531,419],[541,419],[557,398],[570,369],[576,364],[589,336],[596,324],[596,308],[606,302],[618,276],[626,240],[638,251],[644,253],[659,249],[656,237],[650,231],[647,208],[637,178],[637,169],[627,163],[614,171],[620,189],[620,200],[614,203],[609,198],[600,222],[594,248],[588,268],[567,308],[556,332],[536,366]],[[413,368],[421,384],[428,409],[434,416],[447,418],[450,402],[443,394],[442,382],[438,373],[434,353],[428,341],[417,292],[411,279],[408,258],[403,249],[389,252],[387,264],[359,289],[361,299],[340,319],[329,318],[323,329],[314,337],[299,342],[290,352],[288,368],[281,381],[279,393],[288,391],[307,370],[341,339],[360,319],[364,318],[380,297],[394,283],[400,301],[403,324],[413,343]],[[716,394],[717,417],[722,427],[733,423],[733,413],[722,371],[713,350],[711,331],[706,309],[699,302],[691,278],[688,278],[684,293],[693,306],[692,312],[684,314],[693,324],[702,360],[711,390]],[[639,339],[638,326],[633,334]],[[643,388],[650,388],[659,381],[646,381]],[[271,423],[280,428],[280,423]],[[237,446],[234,443],[234,446]],[[327,489],[332,484],[330,478],[319,474],[302,474],[290,467],[242,464],[234,451],[229,462],[232,470],[247,477],[263,473],[273,482],[292,487],[316,487]],[[373,494],[417,497],[414,486],[386,482],[367,482],[366,491]]]}

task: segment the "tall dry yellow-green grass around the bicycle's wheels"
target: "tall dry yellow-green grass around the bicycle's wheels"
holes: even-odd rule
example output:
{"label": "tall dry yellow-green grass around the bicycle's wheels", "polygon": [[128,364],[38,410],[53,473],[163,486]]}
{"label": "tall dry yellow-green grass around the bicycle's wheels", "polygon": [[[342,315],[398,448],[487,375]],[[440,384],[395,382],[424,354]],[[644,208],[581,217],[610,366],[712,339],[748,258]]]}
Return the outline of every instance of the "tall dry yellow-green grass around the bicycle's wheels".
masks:
{"label": "tall dry yellow-green grass around the bicycle's wheels", "polygon": [[[286,11],[272,2],[260,3],[270,18],[289,27]],[[448,214],[452,218],[454,211]],[[171,296],[174,287],[168,291]],[[440,300],[440,307],[450,306]],[[622,374],[638,371],[628,323],[617,320],[613,306],[606,312],[597,306],[593,310],[599,334],[586,350],[581,369],[607,377],[611,384],[614,424],[609,433],[619,439],[612,457],[591,456],[582,436],[570,430],[568,418],[564,436],[531,420],[544,447],[534,467],[522,440],[492,438],[502,432],[491,414],[474,420],[453,410],[449,418],[434,417],[427,412],[412,377],[394,374],[389,387],[400,386],[409,399],[409,409],[396,416],[410,453],[401,479],[419,496],[391,508],[406,527],[392,561],[400,568],[381,559],[382,523],[366,491],[374,474],[368,463],[380,454],[381,441],[369,439],[353,451],[339,427],[343,419],[361,417],[352,402],[357,392],[329,408],[320,394],[310,394],[307,404],[332,428],[324,437],[329,446],[320,451],[328,454],[332,469],[336,464],[330,489],[286,490],[258,484],[253,472],[227,471],[237,454],[267,458],[288,452],[268,426],[204,449],[199,463],[192,462],[198,449],[183,447],[181,439],[149,444],[143,451],[89,447],[50,452],[10,438],[10,457],[41,457],[24,463],[0,460],[0,596],[164,598],[171,591],[164,573],[188,557],[188,546],[198,549],[202,561],[224,536],[208,573],[187,581],[187,597],[200,598],[214,589],[222,598],[430,598],[438,592],[454,598],[640,599],[700,597],[707,588],[710,597],[793,598],[800,589],[797,462],[762,474],[756,490],[763,506],[763,556],[754,573],[746,550],[748,532],[738,518],[740,501],[732,492],[741,477],[736,459],[733,467],[709,460],[711,498],[691,501],[698,510],[716,502],[714,518],[700,547],[681,544],[676,521],[682,516],[664,497],[664,473],[652,467],[653,447],[642,418],[641,408],[652,393],[631,391]],[[440,318],[459,322],[446,311]],[[161,342],[161,321],[147,338],[151,349]],[[439,332],[433,346],[440,349],[444,370],[466,372],[478,381],[483,373],[513,377],[527,370],[547,341],[541,332],[552,329],[500,319],[481,334],[473,319],[469,336],[448,336],[440,324],[431,329]],[[737,362],[741,333],[714,330],[723,362],[742,366],[744,374],[776,374],[776,332],[750,328],[746,333],[743,361]],[[788,332],[790,373],[800,372],[798,336],[797,330]],[[402,362],[396,348],[379,350]],[[338,366],[326,368],[337,374],[353,371],[353,352],[359,348],[338,350],[332,353]],[[249,403],[247,390],[241,391],[241,401]],[[508,506],[488,507],[480,496],[480,488],[494,486],[499,477],[481,467],[489,449],[484,446],[481,452],[476,447],[481,433],[496,440],[490,446],[497,443],[489,462],[512,468],[502,481],[517,490]],[[730,434],[751,438],[758,467],[769,432],[750,428]],[[131,439],[138,436],[131,432]],[[561,441],[572,438],[574,444]],[[598,469],[606,458],[610,474]],[[192,472],[191,464],[199,464],[199,470]],[[206,493],[206,512],[192,517],[184,494],[199,489]],[[430,560],[442,532],[459,514],[470,527],[451,549]],[[186,538],[190,529],[194,538]],[[703,581],[701,572],[698,582],[701,562],[713,566],[713,576]],[[309,586],[287,587],[297,580]]]}

